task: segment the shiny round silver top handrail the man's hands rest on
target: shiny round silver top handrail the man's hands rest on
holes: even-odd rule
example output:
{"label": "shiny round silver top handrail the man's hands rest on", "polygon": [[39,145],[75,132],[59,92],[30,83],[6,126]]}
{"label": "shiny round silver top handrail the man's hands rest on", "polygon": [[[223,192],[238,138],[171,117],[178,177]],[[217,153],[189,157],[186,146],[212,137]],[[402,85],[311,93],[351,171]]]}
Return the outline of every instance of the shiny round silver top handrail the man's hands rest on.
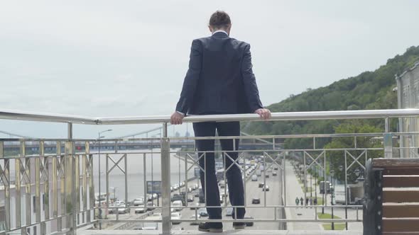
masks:
{"label": "shiny round silver top handrail the man's hands rest on", "polygon": [[[386,117],[417,117],[419,109],[388,109],[388,110],[339,110],[312,112],[272,113],[271,121],[275,120],[328,120],[328,119],[367,119]],[[85,125],[127,125],[170,122],[170,116],[133,116],[133,117],[85,117],[62,115],[55,113],[35,113],[20,110],[0,110],[0,119],[26,120],[36,122],[64,122]],[[184,118],[184,122],[209,121],[260,121],[256,114],[224,114],[224,115],[192,115]]]}

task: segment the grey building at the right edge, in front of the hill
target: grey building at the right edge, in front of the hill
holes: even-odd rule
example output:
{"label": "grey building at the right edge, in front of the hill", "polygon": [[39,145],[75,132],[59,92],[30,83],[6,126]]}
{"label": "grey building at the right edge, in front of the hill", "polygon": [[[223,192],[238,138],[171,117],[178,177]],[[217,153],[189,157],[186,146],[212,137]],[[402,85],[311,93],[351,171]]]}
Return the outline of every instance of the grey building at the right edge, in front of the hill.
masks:
{"label": "grey building at the right edge, in front of the hill", "polygon": [[[419,62],[403,74],[396,75],[398,108],[419,108]],[[419,132],[418,117],[399,117],[399,132]],[[400,138],[401,157],[419,157],[419,136],[403,135]],[[411,149],[411,147],[416,147]]]}

